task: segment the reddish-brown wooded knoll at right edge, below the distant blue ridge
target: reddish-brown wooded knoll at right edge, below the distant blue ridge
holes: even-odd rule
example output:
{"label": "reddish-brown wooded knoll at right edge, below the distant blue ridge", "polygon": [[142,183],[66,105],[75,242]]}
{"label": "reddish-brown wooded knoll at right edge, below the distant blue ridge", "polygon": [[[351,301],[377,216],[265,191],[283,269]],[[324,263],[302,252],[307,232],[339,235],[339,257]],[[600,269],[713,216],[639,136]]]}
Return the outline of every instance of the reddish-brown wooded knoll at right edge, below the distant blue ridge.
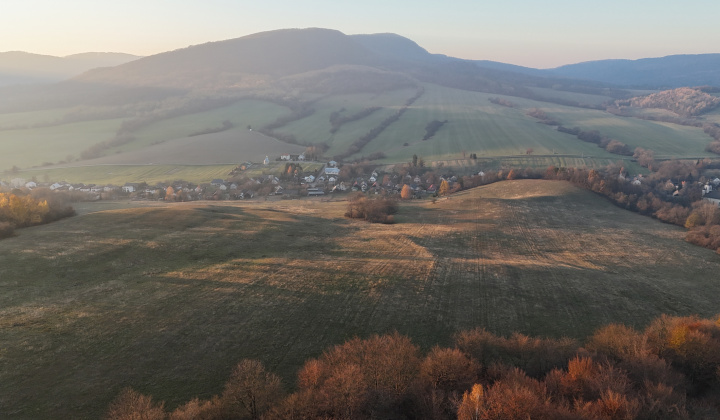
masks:
{"label": "reddish-brown wooded knoll at right edge, below the distant blue ridge", "polygon": [[682,87],[653,93],[648,96],[615,101],[618,107],[667,109],[686,117],[696,116],[720,105],[720,98],[709,95],[700,89]]}

